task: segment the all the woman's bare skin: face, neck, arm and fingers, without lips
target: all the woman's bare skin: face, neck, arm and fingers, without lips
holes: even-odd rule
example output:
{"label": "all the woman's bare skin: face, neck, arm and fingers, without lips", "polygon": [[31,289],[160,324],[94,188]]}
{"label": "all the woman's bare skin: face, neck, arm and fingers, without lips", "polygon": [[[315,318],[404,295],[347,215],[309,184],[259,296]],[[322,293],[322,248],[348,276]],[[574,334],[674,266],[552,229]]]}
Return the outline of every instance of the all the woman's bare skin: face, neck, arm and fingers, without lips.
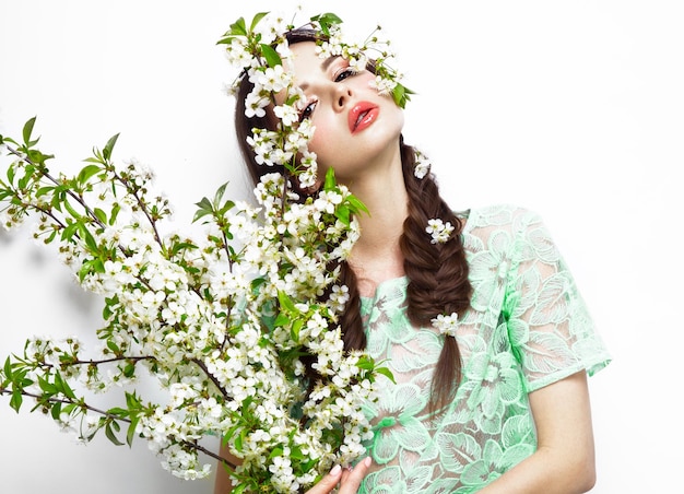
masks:
{"label": "all the woman's bare skin: face, neck, arm and fingers, without lips", "polygon": [[[400,133],[403,113],[388,96],[370,86],[373,75],[344,73],[346,62],[331,63],[314,52],[312,43],[292,47],[297,83],[309,98],[316,126],[309,149],[317,153],[320,176],[334,165],[338,180],[345,184],[370,211],[359,217],[362,236],[350,264],[363,296],[372,296],[379,283],[402,277],[399,237],[406,217],[406,190],[401,174]],[[359,132],[349,126],[349,111],[359,102],[377,105],[377,117]],[[331,139],[331,136],[333,137]],[[561,494],[589,491],[595,482],[594,446],[587,376],[580,372],[530,393],[539,448],[484,490],[483,494]],[[309,494],[355,493],[370,466],[362,461],[352,472],[333,469]],[[222,470],[222,469],[220,469]],[[220,479],[220,477],[225,479]],[[217,474],[215,493],[227,475]]]}

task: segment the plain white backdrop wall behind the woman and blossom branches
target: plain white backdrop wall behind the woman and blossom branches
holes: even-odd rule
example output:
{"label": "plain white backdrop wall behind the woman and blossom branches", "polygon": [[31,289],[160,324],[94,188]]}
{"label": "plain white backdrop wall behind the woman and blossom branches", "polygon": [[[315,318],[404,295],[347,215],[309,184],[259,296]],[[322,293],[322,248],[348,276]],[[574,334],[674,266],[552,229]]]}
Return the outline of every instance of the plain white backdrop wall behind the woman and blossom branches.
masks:
{"label": "plain white backdrop wall behind the woman and blossom branches", "polygon": [[[115,156],[152,166],[188,227],[192,204],[217,185],[247,193],[215,42],[239,15],[297,4],[338,13],[350,34],[384,27],[417,92],[404,136],[432,157],[455,209],[514,202],[544,216],[614,356],[590,380],[592,492],[673,492],[684,440],[677,0],[456,1],[448,11],[432,0],[0,0],[0,133],[19,137],[37,116],[52,166],[74,170],[120,132]],[[93,341],[99,301],[30,228],[0,233],[0,277],[2,360],[33,334]],[[211,480],[172,478],[142,443],[78,446],[8,403],[0,398],[2,492],[211,492]]]}

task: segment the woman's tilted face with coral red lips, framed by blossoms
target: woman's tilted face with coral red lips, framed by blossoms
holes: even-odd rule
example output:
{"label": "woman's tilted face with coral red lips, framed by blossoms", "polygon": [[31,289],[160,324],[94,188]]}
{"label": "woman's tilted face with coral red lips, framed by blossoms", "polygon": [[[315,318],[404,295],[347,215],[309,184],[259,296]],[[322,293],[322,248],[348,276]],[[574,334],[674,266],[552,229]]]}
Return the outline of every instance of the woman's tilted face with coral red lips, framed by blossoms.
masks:
{"label": "woman's tilted face with coral red lips, framed by blossoms", "polygon": [[403,111],[391,96],[378,94],[372,72],[356,72],[342,57],[322,59],[315,48],[312,42],[291,46],[295,84],[306,95],[300,118],[316,128],[309,151],[317,155],[319,179],[332,166],[338,180],[347,183],[397,156]]}

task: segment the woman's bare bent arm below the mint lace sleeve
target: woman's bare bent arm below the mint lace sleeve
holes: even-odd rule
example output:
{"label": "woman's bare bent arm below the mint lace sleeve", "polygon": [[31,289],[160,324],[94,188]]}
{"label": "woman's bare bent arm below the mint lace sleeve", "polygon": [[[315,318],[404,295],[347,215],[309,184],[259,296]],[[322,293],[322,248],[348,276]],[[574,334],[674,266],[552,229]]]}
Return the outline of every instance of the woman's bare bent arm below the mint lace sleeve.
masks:
{"label": "woman's bare bent arm below the mint lace sleeve", "polygon": [[530,393],[538,450],[481,494],[583,493],[595,482],[587,374],[582,370]]}

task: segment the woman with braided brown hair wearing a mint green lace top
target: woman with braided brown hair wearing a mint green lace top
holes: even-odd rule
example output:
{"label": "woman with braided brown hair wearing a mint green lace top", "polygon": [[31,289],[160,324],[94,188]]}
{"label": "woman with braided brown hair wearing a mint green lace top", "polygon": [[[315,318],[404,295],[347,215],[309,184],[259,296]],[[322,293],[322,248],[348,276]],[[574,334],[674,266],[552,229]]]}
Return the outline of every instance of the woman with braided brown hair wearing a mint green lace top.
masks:
{"label": "woman with braided brown hair wearing a mint green lace top", "polygon": [[[453,213],[416,169],[403,111],[373,72],[321,59],[309,31],[288,40],[319,176],[333,167],[369,210],[342,271],[345,345],[387,360],[396,378],[365,410],[369,458],[309,493],[589,491],[587,374],[610,356],[539,216],[509,205]],[[245,117],[249,90],[244,81],[236,124],[257,180],[272,168],[245,140],[269,116]],[[220,473],[216,492],[225,482]]]}

